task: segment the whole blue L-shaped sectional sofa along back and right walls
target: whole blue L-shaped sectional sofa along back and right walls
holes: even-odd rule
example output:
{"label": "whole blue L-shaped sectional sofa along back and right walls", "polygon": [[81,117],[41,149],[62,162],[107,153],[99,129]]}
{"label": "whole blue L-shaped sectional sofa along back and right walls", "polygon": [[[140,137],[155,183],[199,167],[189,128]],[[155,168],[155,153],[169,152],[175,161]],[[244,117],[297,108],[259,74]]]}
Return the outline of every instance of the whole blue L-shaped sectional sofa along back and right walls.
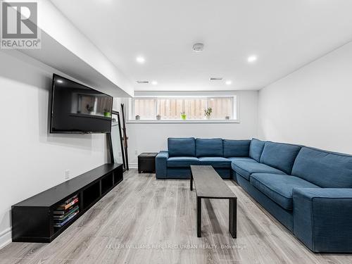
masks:
{"label": "whole blue L-shaped sectional sofa along back and right walls", "polygon": [[235,180],[314,252],[352,252],[352,156],[258,139],[169,138],[158,179],[212,165]]}

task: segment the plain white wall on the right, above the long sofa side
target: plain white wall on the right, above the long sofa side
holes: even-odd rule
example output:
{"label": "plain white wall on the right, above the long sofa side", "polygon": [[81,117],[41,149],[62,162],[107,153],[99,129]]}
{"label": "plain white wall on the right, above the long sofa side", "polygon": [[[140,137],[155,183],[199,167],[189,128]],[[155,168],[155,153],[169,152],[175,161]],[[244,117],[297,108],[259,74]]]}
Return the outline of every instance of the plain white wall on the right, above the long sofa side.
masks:
{"label": "plain white wall on the right, above the long sofa side", "polygon": [[352,154],[352,43],[261,89],[258,137]]}

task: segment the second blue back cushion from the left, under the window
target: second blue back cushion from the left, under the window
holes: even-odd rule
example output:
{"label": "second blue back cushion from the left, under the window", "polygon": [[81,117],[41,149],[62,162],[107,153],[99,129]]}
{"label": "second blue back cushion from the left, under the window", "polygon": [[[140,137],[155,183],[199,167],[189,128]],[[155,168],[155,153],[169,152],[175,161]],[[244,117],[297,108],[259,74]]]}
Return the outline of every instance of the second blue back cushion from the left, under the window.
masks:
{"label": "second blue back cushion from the left, under the window", "polygon": [[222,157],[222,139],[196,139],[197,157]]}

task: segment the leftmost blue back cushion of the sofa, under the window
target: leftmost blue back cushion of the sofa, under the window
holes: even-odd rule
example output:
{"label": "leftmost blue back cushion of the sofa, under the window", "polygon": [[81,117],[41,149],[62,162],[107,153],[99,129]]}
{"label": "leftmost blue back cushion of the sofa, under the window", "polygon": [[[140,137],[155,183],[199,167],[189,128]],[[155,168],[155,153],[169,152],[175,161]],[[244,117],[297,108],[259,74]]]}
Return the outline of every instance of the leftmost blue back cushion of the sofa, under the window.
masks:
{"label": "leftmost blue back cushion of the sofa, under the window", "polygon": [[169,137],[168,151],[170,157],[195,157],[196,141],[194,137]]}

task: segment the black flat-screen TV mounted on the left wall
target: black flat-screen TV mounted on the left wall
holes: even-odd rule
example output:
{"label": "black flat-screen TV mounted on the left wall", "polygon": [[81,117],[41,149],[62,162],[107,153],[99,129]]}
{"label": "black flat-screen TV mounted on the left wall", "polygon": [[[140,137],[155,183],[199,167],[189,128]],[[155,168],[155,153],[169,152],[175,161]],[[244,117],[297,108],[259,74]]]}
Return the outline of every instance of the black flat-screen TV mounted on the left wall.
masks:
{"label": "black flat-screen TV mounted on the left wall", "polygon": [[111,132],[112,108],[113,97],[54,74],[51,133]]}

